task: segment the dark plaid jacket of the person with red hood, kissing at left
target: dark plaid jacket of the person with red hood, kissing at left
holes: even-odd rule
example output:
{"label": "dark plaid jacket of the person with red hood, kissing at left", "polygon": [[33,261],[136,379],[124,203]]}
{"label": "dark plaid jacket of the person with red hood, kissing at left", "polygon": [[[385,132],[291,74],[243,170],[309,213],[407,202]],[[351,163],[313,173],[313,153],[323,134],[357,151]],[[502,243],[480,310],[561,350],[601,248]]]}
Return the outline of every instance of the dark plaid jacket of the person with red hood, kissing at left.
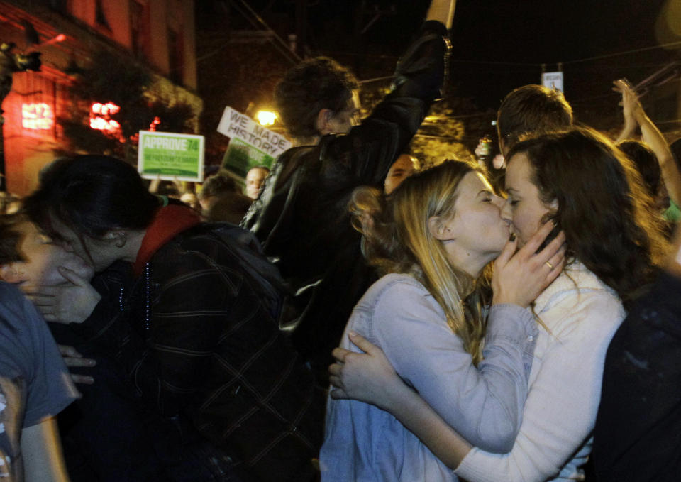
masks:
{"label": "dark plaid jacket of the person with red hood, kissing at left", "polygon": [[148,409],[196,429],[243,481],[305,481],[324,395],[279,331],[268,266],[253,234],[199,224],[158,248],[114,297],[114,317],[82,331],[121,363]]}

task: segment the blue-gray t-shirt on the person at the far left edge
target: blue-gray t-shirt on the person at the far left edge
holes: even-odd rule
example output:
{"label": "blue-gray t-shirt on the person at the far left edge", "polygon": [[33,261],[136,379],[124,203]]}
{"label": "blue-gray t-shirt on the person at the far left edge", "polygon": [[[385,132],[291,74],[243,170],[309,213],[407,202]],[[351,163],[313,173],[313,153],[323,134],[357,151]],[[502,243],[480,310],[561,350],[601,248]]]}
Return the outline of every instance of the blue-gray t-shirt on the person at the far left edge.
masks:
{"label": "blue-gray t-shirt on the person at the far left edge", "polygon": [[21,292],[0,282],[0,480],[23,480],[21,429],[78,397],[55,340]]}

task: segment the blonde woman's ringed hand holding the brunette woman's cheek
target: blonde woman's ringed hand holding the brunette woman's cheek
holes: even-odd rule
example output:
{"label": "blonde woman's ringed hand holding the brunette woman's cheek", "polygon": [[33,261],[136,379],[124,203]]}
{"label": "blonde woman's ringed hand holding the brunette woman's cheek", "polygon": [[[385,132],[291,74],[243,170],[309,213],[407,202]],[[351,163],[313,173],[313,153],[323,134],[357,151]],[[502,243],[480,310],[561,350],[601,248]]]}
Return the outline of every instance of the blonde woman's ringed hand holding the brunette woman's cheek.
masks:
{"label": "blonde woman's ringed hand holding the brunette woman's cheek", "polygon": [[506,243],[499,258],[494,261],[493,305],[512,303],[528,307],[558,277],[565,262],[563,231],[536,253],[552,229],[553,222],[544,224],[517,253],[516,239]]}

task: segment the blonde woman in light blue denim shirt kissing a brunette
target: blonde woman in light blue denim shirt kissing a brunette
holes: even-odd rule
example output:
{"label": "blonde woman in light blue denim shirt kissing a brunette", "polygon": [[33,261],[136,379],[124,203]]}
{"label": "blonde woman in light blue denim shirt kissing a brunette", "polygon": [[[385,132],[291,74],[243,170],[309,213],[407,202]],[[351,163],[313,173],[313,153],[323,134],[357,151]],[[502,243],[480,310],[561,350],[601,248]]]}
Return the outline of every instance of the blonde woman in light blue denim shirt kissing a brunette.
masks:
{"label": "blonde woman in light blue denim shirt kissing a brunette", "polygon": [[[458,161],[409,177],[387,201],[355,192],[365,256],[387,274],[342,341],[350,349],[358,332],[379,345],[450,424],[499,452],[518,432],[531,368],[536,323],[524,307],[558,275],[564,252],[561,234],[535,254],[547,225],[511,257],[503,205],[474,165]],[[480,278],[497,256],[485,323]],[[320,462],[322,481],[455,480],[392,415],[354,400],[329,400]]]}

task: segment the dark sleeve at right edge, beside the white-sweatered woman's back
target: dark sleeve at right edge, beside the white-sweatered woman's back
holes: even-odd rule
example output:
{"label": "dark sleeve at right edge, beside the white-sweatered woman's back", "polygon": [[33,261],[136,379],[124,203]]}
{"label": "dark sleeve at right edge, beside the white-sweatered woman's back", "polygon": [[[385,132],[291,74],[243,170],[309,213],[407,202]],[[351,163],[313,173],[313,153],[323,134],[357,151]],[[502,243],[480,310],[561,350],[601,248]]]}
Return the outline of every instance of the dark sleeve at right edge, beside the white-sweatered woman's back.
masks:
{"label": "dark sleeve at right edge, beside the white-sweatered woman's back", "polygon": [[681,280],[662,274],[608,349],[594,429],[602,481],[677,481],[681,473]]}

